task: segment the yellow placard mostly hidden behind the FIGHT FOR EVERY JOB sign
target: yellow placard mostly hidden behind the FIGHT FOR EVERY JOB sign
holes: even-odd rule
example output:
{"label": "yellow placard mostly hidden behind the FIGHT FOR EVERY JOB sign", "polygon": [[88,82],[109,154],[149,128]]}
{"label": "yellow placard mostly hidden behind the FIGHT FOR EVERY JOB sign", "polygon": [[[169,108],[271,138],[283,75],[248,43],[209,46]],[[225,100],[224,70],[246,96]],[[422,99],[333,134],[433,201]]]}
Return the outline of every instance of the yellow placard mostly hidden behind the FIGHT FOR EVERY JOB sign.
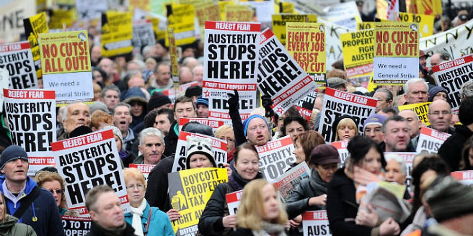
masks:
{"label": "yellow placard mostly hidden behind the FIGHT FOR EVERY JOB sign", "polygon": [[317,15],[275,14],[273,15],[273,32],[279,42],[286,44],[286,22],[317,22]]}

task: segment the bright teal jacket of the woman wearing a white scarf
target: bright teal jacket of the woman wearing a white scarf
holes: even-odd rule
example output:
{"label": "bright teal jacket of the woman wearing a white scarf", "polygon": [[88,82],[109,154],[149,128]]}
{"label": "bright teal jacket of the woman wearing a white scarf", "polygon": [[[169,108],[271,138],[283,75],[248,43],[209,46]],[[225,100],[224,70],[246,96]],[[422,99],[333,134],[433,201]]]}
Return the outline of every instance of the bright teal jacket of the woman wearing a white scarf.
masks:
{"label": "bright teal jacket of the woman wearing a white scarf", "polygon": [[[148,222],[150,205],[146,202],[146,208],[144,208],[143,215],[141,216],[141,225],[143,226],[143,233],[146,229],[146,222]],[[158,207],[151,207],[151,220],[148,228],[148,236],[175,236],[174,229],[171,224],[171,220],[166,213],[160,211]],[[125,221],[132,224],[133,214],[126,213]]]}

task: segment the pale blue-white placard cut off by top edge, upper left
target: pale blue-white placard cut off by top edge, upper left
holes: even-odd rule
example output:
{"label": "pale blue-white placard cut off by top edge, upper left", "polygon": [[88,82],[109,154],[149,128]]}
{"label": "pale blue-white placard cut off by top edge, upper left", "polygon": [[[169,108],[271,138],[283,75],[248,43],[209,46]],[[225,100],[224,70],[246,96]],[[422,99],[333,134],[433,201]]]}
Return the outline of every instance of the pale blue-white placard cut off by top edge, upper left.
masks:
{"label": "pale blue-white placard cut off by top edge, upper left", "polygon": [[76,0],[76,9],[81,21],[97,19],[108,10],[107,0]]}

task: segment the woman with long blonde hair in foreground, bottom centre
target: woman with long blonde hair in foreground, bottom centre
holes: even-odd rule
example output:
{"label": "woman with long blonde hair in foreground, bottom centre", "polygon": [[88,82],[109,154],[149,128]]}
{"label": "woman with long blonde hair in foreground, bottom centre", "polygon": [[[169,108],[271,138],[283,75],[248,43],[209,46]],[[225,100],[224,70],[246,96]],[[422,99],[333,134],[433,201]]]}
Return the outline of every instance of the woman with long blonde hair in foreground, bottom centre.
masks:
{"label": "woman with long blonde hair in foreground, bottom centre", "polygon": [[243,188],[237,231],[231,236],[286,236],[287,214],[274,185],[259,179]]}

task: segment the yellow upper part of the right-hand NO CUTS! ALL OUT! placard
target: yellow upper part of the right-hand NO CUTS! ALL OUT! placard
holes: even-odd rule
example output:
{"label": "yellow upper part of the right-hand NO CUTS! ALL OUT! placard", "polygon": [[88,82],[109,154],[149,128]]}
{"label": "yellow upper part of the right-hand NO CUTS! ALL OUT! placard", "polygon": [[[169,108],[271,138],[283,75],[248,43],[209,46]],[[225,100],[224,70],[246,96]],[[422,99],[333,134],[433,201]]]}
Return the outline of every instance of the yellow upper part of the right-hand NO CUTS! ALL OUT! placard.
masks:
{"label": "yellow upper part of the right-hand NO CUTS! ALL OUT! placard", "polygon": [[376,22],[374,26],[374,56],[419,56],[419,26],[417,23]]}

